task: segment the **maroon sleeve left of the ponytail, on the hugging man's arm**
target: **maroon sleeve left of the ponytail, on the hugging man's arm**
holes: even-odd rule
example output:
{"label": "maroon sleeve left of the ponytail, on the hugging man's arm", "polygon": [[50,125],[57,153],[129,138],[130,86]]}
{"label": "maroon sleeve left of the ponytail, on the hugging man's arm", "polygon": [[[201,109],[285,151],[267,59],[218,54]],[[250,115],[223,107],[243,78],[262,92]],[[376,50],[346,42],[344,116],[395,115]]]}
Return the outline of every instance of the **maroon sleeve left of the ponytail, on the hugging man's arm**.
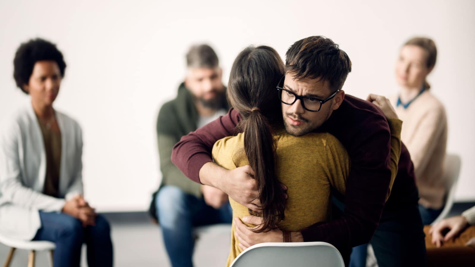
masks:
{"label": "maroon sleeve left of the ponytail, on the hugging man's arm", "polygon": [[228,114],[181,137],[180,142],[173,147],[171,161],[188,178],[199,183],[199,170],[205,163],[213,161],[213,144],[221,138],[233,135],[238,122],[239,112],[231,108]]}

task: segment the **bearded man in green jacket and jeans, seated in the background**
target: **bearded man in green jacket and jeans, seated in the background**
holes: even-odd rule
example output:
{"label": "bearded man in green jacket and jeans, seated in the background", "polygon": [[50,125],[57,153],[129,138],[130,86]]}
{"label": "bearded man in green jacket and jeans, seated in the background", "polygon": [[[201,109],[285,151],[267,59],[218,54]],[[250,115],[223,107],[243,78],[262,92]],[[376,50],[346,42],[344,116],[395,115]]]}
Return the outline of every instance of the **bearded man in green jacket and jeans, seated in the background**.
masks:
{"label": "bearded man in green jacket and jeans, seated in the background", "polygon": [[186,178],[171,163],[171,149],[181,136],[226,114],[226,88],[218,56],[208,45],[193,46],[186,55],[187,74],[177,97],[158,114],[157,139],[162,180],[153,194],[150,215],[160,222],[173,267],[193,266],[193,227],[231,223],[228,195]]}

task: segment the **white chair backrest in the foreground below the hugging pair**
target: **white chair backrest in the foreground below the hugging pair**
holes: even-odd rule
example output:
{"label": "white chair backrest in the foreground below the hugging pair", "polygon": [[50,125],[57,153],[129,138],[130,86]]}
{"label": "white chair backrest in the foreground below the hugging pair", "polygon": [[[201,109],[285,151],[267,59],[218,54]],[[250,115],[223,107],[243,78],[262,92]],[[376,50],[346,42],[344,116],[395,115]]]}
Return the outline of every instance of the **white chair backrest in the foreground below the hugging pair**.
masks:
{"label": "white chair backrest in the foreground below the hugging pair", "polygon": [[325,242],[261,243],[239,254],[231,267],[344,267],[342,255]]}

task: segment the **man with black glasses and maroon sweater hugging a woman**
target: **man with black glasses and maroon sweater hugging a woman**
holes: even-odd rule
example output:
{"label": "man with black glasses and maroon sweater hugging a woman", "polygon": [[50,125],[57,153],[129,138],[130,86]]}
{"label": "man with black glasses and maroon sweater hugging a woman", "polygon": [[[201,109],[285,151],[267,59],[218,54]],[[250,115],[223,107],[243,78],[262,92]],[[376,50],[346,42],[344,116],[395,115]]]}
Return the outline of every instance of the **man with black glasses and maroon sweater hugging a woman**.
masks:
{"label": "man with black glasses and maroon sweater hugging a woman", "polygon": [[[345,196],[333,193],[333,204],[342,215],[292,232],[291,240],[329,242],[340,250],[345,262],[349,248],[370,242],[380,267],[425,266],[424,233],[409,152],[401,144],[399,170],[397,175],[391,174],[389,125],[375,105],[345,95],[342,86],[350,71],[348,55],[321,36],[299,40],[286,53],[285,77],[276,88],[286,131],[294,136],[329,132],[351,158]],[[231,109],[226,116],[184,136],[173,148],[171,160],[191,180],[219,188],[240,204],[258,210],[252,169],[243,166],[228,171],[210,157],[213,144],[234,134],[239,119],[238,112]],[[260,219],[249,216],[243,221],[259,224]],[[282,235],[274,231],[254,233],[240,220],[234,223],[241,244],[282,242]]]}

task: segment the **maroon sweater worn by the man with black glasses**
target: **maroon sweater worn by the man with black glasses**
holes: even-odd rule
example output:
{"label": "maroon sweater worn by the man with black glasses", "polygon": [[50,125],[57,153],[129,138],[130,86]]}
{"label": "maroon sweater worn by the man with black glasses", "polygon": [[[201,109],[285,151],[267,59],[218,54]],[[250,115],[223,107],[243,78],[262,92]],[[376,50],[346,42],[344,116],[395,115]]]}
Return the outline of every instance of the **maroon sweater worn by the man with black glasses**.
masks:
{"label": "maroon sweater worn by the man with black glasses", "polygon": [[[214,143],[235,134],[239,119],[239,113],[231,108],[227,115],[183,136],[173,148],[171,161],[187,177],[199,182],[199,170],[206,162],[212,161]],[[345,95],[342,105],[317,131],[336,136],[348,151],[352,165],[342,217],[303,229],[304,241],[324,241],[337,248],[368,243],[380,222],[390,183],[388,122],[375,105]],[[398,169],[388,209],[403,208],[405,205],[399,205],[402,204],[399,201],[417,204],[414,171],[404,144],[401,144]]]}

